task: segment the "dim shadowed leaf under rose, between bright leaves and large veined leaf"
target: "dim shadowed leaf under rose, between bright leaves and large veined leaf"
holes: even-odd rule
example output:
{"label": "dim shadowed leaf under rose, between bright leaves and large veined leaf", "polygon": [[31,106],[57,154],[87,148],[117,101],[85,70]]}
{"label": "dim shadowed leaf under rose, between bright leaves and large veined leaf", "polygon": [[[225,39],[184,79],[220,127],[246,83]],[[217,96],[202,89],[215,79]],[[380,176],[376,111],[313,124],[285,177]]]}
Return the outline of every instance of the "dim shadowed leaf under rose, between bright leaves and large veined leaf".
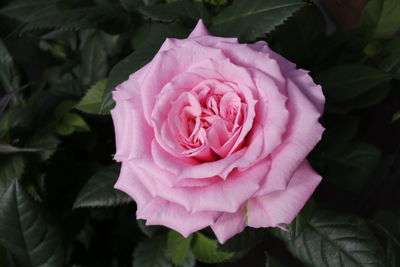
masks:
{"label": "dim shadowed leaf under rose, between bright leaves and large veined leaf", "polygon": [[218,247],[219,251],[237,252],[249,250],[258,245],[265,237],[264,229],[247,227],[243,232],[230,238]]}

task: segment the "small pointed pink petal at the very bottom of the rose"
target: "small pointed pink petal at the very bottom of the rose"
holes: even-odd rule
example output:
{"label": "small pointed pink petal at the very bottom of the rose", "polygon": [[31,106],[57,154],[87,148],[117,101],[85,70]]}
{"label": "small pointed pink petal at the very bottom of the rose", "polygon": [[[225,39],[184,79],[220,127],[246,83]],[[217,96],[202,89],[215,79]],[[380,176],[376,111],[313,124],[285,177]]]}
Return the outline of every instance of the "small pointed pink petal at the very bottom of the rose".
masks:
{"label": "small pointed pink petal at the very bottom of the rose", "polygon": [[232,236],[242,232],[245,225],[245,208],[244,205],[234,213],[223,213],[218,220],[211,225],[219,243],[223,244]]}

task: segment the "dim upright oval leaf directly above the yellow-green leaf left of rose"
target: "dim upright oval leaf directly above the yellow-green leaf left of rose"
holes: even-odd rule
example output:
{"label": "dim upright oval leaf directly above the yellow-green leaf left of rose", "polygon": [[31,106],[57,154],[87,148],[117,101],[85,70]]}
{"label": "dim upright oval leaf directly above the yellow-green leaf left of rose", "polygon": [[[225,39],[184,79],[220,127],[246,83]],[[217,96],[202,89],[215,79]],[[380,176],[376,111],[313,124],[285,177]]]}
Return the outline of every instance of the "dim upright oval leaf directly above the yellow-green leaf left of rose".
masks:
{"label": "dim upright oval leaf directly above the yellow-green leaf left of rose", "polygon": [[100,32],[93,32],[82,48],[82,83],[89,86],[103,79],[106,72],[106,48]]}

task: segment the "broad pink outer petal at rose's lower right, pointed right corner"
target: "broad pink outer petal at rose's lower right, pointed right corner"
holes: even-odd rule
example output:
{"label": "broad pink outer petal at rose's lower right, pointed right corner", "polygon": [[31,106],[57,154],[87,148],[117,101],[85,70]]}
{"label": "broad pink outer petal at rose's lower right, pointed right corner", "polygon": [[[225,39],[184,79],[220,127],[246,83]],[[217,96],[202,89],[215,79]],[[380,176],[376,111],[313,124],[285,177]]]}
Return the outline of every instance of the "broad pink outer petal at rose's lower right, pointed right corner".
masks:
{"label": "broad pink outer petal at rose's lower right, pointed right corner", "polygon": [[305,160],[294,173],[287,188],[250,199],[247,205],[247,225],[275,227],[289,224],[299,213],[321,181]]}

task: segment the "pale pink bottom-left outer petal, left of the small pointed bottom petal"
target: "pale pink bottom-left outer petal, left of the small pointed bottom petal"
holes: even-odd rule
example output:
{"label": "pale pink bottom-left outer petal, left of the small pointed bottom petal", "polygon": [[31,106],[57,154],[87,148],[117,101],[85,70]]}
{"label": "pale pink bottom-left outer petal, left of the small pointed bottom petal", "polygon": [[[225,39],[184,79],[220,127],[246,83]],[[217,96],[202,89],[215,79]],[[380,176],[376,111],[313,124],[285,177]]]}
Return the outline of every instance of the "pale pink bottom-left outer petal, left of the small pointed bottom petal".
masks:
{"label": "pale pink bottom-left outer petal, left of the small pointed bottom petal", "polygon": [[178,204],[162,198],[154,198],[137,211],[137,218],[147,220],[146,225],[164,225],[187,237],[193,232],[212,225],[220,214],[220,212],[212,211],[190,214]]}

